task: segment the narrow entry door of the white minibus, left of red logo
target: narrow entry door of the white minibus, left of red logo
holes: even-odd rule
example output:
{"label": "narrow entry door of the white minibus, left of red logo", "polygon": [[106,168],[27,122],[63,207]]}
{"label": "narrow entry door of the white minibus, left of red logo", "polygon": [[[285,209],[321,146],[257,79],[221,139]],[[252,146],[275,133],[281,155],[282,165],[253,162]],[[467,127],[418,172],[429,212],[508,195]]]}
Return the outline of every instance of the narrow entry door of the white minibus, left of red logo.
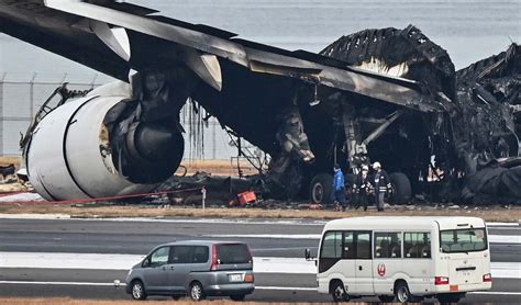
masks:
{"label": "narrow entry door of the white minibus, left of red logo", "polygon": [[373,294],[373,260],[372,260],[372,231],[354,231],[356,248],[356,292]]}

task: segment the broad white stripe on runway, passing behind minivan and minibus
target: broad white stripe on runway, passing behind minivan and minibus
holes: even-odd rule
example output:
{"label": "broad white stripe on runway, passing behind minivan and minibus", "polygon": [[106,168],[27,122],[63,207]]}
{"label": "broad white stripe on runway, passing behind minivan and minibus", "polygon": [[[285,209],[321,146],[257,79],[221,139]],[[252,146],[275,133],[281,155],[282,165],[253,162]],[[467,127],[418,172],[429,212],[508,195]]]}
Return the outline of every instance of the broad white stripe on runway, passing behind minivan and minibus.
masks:
{"label": "broad white stripe on runway, passing behind minivan and minibus", "polygon": [[[144,256],[96,253],[0,252],[0,268],[129,270]],[[256,273],[314,274],[304,258],[254,257]],[[491,262],[492,279],[521,279],[521,262]]]}

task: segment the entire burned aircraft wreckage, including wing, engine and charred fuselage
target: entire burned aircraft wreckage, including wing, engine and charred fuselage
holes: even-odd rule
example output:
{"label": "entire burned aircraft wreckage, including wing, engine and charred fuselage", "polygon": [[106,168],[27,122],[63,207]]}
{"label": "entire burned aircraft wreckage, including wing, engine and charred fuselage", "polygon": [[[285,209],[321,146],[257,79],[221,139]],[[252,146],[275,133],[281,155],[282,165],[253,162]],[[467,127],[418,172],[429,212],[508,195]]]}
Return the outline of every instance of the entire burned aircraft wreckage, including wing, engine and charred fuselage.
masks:
{"label": "entire burned aircraft wreckage, including wing, engine and charred fuselage", "polygon": [[30,180],[48,200],[156,188],[182,159],[189,102],[271,157],[253,185],[266,196],[324,202],[333,163],[378,160],[395,202],[521,201],[516,44],[455,71],[414,26],[362,31],[315,55],[109,0],[0,9],[1,32],[123,81],[64,99],[29,129]]}

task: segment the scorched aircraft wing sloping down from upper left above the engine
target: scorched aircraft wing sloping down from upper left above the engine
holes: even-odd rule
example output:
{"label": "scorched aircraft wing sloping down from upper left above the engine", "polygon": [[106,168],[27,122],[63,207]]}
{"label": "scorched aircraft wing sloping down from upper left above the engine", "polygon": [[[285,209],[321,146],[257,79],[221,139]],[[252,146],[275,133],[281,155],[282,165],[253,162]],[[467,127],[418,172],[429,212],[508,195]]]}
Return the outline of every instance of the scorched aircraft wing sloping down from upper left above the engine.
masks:
{"label": "scorched aircraft wing sloping down from upper left above the engine", "polygon": [[[219,60],[230,60],[251,72],[285,76],[423,112],[446,108],[411,80],[350,68],[303,50],[248,42],[114,0],[0,0],[0,31],[124,81],[131,69],[177,59],[220,90]],[[169,46],[180,52],[174,55]],[[147,60],[137,60],[134,54]]]}

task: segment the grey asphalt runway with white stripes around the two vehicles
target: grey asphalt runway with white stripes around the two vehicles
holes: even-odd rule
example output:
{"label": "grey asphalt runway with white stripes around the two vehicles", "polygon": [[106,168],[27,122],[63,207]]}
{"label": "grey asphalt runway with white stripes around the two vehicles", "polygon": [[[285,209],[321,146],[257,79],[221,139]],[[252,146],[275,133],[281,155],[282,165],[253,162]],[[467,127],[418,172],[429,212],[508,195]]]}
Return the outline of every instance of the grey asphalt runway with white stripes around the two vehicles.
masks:
{"label": "grey asphalt runway with white stripes around the two vehicles", "polygon": [[[264,268],[256,272],[256,290],[246,300],[330,302],[329,295],[314,291],[315,275],[308,267],[306,272],[297,269],[293,273],[291,264],[280,271],[276,264],[277,261],[306,263],[300,261],[303,250],[317,251],[317,237],[323,224],[311,221],[0,219],[0,296],[128,300],[124,286],[113,285],[114,280],[123,282],[126,275],[126,264],[120,261],[123,267],[118,267],[118,259],[138,260],[151,248],[173,240],[219,239],[247,242],[256,259],[255,266]],[[495,272],[503,275],[494,279],[491,291],[469,294],[464,301],[519,304],[521,228],[491,227],[489,235],[492,276]],[[89,253],[98,256],[90,258],[96,261],[85,260]],[[24,257],[34,259],[24,260]],[[113,261],[103,263],[104,258]],[[67,260],[73,261],[71,266],[60,268]],[[362,301],[376,302],[377,298]]]}

